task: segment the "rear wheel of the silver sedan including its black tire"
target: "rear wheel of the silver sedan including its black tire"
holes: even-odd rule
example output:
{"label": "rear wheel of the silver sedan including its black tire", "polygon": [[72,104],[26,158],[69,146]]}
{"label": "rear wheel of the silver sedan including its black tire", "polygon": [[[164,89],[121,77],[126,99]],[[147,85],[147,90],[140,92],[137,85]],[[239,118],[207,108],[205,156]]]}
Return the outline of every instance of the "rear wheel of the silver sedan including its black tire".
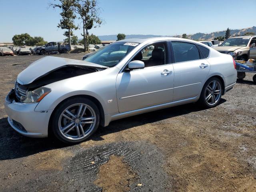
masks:
{"label": "rear wheel of the silver sedan including its black tire", "polygon": [[[214,88],[214,82],[216,84],[215,88]],[[203,108],[212,108],[218,105],[218,103],[220,102],[221,96],[222,96],[222,83],[219,78],[213,77],[208,79],[205,82],[202,88],[202,92],[200,94],[198,103]]]}

